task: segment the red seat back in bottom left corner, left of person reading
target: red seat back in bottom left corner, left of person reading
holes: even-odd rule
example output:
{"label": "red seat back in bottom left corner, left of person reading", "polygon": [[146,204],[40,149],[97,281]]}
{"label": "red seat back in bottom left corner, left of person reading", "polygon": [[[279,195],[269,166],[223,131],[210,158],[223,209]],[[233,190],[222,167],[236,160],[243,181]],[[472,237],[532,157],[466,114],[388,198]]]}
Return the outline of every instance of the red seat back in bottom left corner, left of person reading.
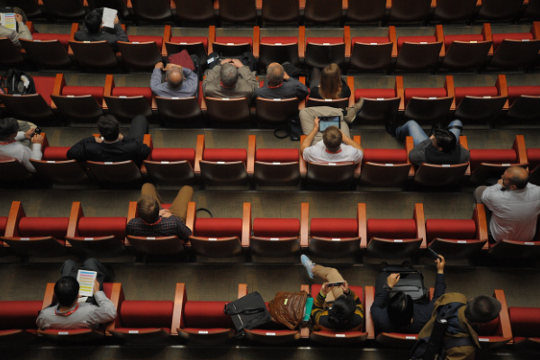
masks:
{"label": "red seat back in bottom left corner, left of person reading", "polygon": [[0,302],[0,330],[38,329],[36,319],[43,301]]}

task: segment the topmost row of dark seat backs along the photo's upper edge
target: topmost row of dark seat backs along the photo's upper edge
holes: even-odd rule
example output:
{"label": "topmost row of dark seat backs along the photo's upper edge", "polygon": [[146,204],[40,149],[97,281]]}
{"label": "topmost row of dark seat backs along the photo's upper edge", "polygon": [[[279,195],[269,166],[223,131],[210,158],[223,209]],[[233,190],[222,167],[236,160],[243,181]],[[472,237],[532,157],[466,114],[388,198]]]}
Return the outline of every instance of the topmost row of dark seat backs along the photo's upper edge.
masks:
{"label": "topmost row of dark seat backs along the photo's upper edge", "polygon": [[148,23],[283,25],[337,23],[449,23],[540,17],[536,0],[25,0],[12,1],[30,18],[82,20],[108,6],[122,19]]}

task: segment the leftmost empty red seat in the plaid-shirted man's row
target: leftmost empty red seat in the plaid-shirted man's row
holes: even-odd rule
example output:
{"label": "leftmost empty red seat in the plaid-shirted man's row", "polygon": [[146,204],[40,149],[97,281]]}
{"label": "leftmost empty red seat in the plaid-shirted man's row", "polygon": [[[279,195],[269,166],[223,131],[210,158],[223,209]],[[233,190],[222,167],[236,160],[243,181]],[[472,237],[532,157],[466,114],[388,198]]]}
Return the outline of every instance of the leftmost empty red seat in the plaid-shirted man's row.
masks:
{"label": "leftmost empty red seat in the plaid-shirted man's row", "polygon": [[12,202],[6,223],[4,247],[20,257],[67,255],[67,217],[28,217],[21,202]]}

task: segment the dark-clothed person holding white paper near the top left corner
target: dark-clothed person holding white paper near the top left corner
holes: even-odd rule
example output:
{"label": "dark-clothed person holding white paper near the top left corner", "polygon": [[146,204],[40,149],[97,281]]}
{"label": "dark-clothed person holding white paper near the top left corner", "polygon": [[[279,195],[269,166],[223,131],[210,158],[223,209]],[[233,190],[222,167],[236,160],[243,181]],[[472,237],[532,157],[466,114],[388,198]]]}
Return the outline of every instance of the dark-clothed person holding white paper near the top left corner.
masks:
{"label": "dark-clothed person holding white paper near the top left corner", "polygon": [[118,51],[117,41],[129,41],[128,34],[121,28],[118,15],[114,18],[114,28],[103,27],[103,7],[94,9],[85,16],[85,27],[76,31],[77,41],[103,41],[106,40],[114,51]]}

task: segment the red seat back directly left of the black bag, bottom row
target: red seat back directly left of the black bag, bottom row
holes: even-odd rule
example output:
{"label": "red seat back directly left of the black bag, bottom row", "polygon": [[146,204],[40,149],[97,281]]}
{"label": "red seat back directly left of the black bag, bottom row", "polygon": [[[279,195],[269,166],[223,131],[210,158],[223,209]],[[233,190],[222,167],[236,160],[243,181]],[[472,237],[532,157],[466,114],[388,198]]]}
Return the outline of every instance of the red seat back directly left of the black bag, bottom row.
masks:
{"label": "red seat back directly left of the black bag, bottom row", "polygon": [[223,308],[229,302],[185,302],[182,328],[234,328]]}

